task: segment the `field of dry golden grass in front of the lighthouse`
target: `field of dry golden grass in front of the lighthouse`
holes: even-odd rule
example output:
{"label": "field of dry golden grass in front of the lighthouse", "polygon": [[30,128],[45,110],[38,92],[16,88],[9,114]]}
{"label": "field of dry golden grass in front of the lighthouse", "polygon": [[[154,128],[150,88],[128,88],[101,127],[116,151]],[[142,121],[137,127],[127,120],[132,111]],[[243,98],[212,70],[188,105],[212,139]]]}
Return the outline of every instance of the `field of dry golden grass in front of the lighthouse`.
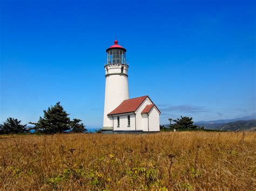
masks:
{"label": "field of dry golden grass in front of the lighthouse", "polygon": [[0,136],[0,189],[255,190],[255,136]]}

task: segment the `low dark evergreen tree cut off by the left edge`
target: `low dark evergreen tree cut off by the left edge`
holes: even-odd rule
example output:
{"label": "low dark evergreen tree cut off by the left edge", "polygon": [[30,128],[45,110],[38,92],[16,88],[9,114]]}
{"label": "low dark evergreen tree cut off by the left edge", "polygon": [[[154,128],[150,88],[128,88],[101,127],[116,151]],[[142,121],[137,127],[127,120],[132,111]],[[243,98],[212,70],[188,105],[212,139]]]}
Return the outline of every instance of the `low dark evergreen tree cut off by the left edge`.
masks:
{"label": "low dark evergreen tree cut off by the left edge", "polygon": [[18,119],[9,117],[6,119],[6,122],[3,122],[3,125],[0,125],[0,133],[1,134],[9,134],[9,133],[25,133],[29,130],[26,129],[26,124],[22,125],[21,121]]}

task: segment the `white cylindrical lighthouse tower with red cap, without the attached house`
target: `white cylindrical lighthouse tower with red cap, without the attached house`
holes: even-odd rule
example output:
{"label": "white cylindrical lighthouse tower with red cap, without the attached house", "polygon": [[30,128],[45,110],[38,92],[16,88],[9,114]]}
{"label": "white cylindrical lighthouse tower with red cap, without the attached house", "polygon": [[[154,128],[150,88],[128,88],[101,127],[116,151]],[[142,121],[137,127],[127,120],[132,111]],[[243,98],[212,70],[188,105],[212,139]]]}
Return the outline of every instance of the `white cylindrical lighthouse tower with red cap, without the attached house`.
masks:
{"label": "white cylindrical lighthouse tower with red cap, without the attached house", "polygon": [[126,63],[126,49],[114,41],[114,45],[106,49],[107,63],[105,67],[105,104],[102,130],[113,130],[112,117],[107,116],[124,100],[129,99],[128,64]]}

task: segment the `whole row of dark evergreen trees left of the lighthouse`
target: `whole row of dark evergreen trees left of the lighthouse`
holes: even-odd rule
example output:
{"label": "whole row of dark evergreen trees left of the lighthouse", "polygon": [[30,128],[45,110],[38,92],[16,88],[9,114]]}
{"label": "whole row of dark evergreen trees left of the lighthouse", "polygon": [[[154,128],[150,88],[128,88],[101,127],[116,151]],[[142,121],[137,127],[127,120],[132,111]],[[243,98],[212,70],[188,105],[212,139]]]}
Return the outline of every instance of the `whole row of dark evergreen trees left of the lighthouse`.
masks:
{"label": "whole row of dark evergreen trees left of the lighthouse", "polygon": [[35,125],[32,128],[22,125],[18,119],[9,117],[6,122],[0,124],[0,134],[28,133],[35,130],[35,133],[54,134],[64,132],[82,133],[86,132],[82,120],[74,118],[71,120],[69,114],[64,110],[60,102],[44,110],[44,116],[39,117],[38,122],[29,124]]}

